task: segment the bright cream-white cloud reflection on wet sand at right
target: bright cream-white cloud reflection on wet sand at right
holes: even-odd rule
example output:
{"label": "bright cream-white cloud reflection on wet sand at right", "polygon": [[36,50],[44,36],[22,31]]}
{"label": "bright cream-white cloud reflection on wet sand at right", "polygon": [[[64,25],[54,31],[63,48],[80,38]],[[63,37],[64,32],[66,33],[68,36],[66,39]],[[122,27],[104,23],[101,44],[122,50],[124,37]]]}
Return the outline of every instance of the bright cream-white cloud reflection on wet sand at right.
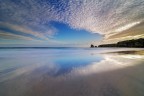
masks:
{"label": "bright cream-white cloud reflection on wet sand at right", "polygon": [[144,61],[143,55],[115,55],[105,54],[100,62],[93,62],[81,68],[75,68],[71,74],[75,75],[92,75],[97,73],[114,71],[126,67],[136,66],[138,62]]}

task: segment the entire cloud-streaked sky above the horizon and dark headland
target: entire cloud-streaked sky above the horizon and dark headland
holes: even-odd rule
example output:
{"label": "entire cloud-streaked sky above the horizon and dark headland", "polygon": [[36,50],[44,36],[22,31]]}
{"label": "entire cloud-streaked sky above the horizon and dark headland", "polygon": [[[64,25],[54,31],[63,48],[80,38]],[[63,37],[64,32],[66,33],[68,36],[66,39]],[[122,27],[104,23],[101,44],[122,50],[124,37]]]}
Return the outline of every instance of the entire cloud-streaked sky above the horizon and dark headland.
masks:
{"label": "entire cloud-streaked sky above the horizon and dark headland", "polygon": [[144,38],[144,0],[0,0],[0,46],[79,47]]}

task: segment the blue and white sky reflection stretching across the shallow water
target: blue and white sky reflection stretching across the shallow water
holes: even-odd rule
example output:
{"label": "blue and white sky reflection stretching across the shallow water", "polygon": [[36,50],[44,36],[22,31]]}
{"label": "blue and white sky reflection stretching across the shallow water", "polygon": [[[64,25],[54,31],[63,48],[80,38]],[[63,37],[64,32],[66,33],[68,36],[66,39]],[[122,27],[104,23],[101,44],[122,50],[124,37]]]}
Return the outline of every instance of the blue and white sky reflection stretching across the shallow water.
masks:
{"label": "blue and white sky reflection stretching across the shallow water", "polygon": [[[12,53],[7,53],[8,57],[6,55],[4,58],[9,60],[2,59],[1,61],[3,64],[9,65],[9,67],[1,67],[0,82],[16,78],[22,74],[38,73],[41,75],[45,74],[51,78],[61,79],[88,76],[136,66],[140,62],[144,62],[144,55],[140,54],[100,54],[94,50],[87,52],[85,50],[86,53],[81,51],[79,53],[82,54],[79,54],[77,51],[73,50],[72,53],[58,50],[51,51],[56,53],[63,52],[62,56],[56,53],[51,55],[50,51],[17,52],[15,53],[16,57],[10,56]],[[12,62],[14,63],[13,65],[11,65]]]}

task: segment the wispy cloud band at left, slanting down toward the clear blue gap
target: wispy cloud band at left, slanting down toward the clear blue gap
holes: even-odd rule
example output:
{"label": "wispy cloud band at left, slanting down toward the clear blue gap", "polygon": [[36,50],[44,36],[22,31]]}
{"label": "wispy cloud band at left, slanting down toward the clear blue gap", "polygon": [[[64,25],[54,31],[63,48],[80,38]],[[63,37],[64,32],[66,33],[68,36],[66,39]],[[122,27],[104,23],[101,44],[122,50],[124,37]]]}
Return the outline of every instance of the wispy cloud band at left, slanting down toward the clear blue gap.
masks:
{"label": "wispy cloud band at left, slanting down toward the clear blue gap", "polygon": [[13,36],[19,35],[19,36],[23,36],[23,37],[25,36],[25,37],[29,37],[29,38],[31,37],[31,40],[32,39],[33,40],[48,40],[49,39],[48,37],[52,36],[54,34],[54,32],[56,32],[56,30],[54,28],[47,30],[46,33],[42,33],[40,31],[34,31],[30,28],[27,28],[26,26],[20,26],[20,25],[0,22],[0,30],[2,30],[3,28],[15,31],[15,32],[7,32],[7,30],[5,30],[5,34],[13,34]]}

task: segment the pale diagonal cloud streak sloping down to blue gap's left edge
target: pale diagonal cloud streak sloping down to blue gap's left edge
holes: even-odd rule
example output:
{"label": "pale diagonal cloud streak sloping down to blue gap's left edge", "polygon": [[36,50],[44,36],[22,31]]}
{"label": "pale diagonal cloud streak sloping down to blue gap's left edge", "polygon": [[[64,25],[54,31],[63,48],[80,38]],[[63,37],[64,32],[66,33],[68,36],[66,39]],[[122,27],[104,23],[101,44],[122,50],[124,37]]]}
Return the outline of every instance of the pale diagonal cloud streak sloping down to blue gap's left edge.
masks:
{"label": "pale diagonal cloud streak sloping down to blue gap's left edge", "polygon": [[[10,30],[14,30],[14,31],[17,31],[17,32],[29,34],[31,36],[39,38],[40,40],[48,40],[49,37],[50,36],[52,37],[55,34],[55,32],[57,31],[55,28],[51,27],[51,28],[47,29],[46,32],[41,32],[41,31],[32,30],[32,29],[28,28],[27,26],[21,26],[21,25],[3,23],[3,22],[0,22],[0,26],[1,27],[6,27]],[[13,34],[13,33],[5,32],[5,34]],[[13,34],[13,35],[18,36],[17,34]],[[20,34],[19,34],[19,36],[20,36]],[[21,35],[21,36],[23,36],[23,35]],[[23,37],[27,38],[27,36],[23,36]],[[34,39],[34,38],[31,37],[31,40],[32,39],[37,40],[37,39]],[[27,39],[27,40],[30,40],[30,39]]]}

